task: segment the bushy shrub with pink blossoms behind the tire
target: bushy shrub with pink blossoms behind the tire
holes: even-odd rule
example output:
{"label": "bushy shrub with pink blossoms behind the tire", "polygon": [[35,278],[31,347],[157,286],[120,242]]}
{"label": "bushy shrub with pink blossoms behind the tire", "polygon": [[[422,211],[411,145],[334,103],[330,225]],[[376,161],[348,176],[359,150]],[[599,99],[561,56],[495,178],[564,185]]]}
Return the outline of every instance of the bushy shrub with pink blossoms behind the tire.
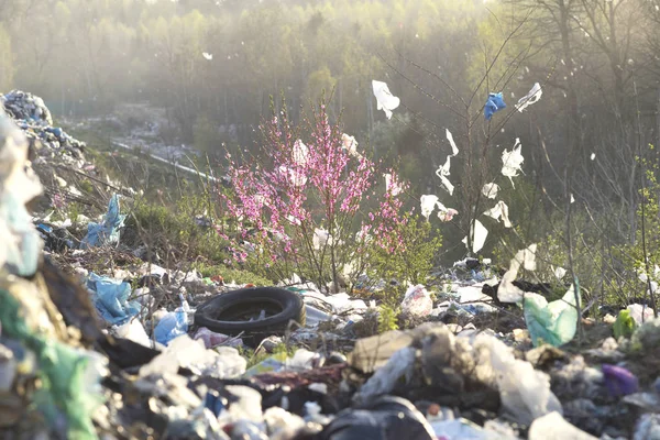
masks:
{"label": "bushy shrub with pink blossoms behind the tire", "polygon": [[233,190],[221,195],[231,221],[218,231],[235,262],[337,289],[342,274],[350,282],[364,272],[371,246],[405,252],[397,231],[408,219],[400,200],[407,185],[388,170],[384,194],[376,194],[384,176],[330,122],[324,105],[298,128],[282,111],[261,131],[257,160],[235,165],[229,157]]}

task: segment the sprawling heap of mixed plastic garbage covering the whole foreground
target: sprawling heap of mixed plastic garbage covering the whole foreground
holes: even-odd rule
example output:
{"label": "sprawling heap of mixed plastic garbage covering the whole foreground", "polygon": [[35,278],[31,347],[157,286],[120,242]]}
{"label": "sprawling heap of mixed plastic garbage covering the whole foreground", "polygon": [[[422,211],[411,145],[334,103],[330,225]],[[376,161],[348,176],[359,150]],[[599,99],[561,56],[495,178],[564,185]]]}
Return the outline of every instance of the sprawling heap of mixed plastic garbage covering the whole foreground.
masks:
{"label": "sprawling heap of mixed plastic garbage covering the whole foreground", "polygon": [[82,240],[33,222],[28,154],[0,113],[0,438],[660,438],[660,320],[640,305],[582,319],[578,345],[575,293],[532,294],[515,276],[524,251],[502,277],[468,258],[433,295],[409,286],[408,324],[378,333],[373,299],[118,248],[118,195]]}

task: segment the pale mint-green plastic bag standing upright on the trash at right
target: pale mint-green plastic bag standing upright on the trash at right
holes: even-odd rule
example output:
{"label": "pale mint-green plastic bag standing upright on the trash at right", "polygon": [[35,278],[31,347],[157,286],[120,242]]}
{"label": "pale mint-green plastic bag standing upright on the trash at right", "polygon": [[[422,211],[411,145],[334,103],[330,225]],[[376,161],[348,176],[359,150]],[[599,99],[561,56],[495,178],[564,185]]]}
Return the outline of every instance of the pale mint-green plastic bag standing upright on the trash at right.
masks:
{"label": "pale mint-green plastic bag standing upright on the trash at right", "polygon": [[548,304],[538,294],[525,294],[525,321],[535,346],[547,342],[560,346],[570,342],[578,329],[578,308],[573,286],[562,299]]}

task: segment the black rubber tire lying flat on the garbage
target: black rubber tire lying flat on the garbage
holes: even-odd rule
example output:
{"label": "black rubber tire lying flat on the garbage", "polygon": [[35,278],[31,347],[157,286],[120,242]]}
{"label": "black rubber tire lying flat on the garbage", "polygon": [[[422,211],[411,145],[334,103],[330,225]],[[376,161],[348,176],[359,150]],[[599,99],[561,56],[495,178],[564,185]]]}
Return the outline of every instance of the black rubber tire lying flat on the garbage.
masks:
{"label": "black rubber tire lying flat on the garbage", "polygon": [[[275,312],[258,321],[232,319],[250,309]],[[279,287],[250,287],[221,294],[199,306],[195,312],[196,326],[229,336],[241,332],[255,337],[284,334],[292,320],[305,326],[305,301],[299,294]]]}

